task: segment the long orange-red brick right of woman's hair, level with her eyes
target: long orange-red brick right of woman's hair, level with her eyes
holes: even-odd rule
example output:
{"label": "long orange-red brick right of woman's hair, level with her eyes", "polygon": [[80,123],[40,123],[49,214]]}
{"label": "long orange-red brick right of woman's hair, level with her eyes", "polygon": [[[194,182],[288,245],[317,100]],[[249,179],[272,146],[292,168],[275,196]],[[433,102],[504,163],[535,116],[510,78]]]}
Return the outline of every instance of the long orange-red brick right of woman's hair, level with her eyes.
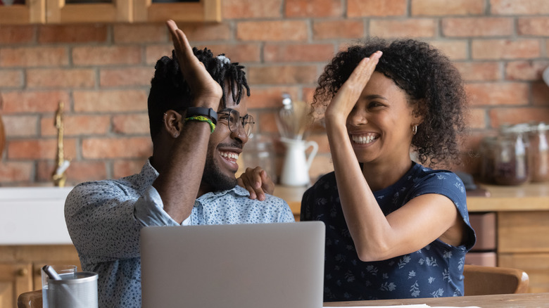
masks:
{"label": "long orange-red brick right of woman's hair, level with her eyes", "polygon": [[465,86],[471,105],[527,105],[529,86],[523,83],[481,83]]}

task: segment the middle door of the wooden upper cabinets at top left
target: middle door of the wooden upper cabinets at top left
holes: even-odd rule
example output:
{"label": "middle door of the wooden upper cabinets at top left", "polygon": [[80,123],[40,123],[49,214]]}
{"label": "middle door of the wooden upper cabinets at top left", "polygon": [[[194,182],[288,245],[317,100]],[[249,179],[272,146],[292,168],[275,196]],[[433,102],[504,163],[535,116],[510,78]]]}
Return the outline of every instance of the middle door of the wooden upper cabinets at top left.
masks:
{"label": "middle door of the wooden upper cabinets at top left", "polygon": [[47,23],[132,22],[132,0],[47,0]]}

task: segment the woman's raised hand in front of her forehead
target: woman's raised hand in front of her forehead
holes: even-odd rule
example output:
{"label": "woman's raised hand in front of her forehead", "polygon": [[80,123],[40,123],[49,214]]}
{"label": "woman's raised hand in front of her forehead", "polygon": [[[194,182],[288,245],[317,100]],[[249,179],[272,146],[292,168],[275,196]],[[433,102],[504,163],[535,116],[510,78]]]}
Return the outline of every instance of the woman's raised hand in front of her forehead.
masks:
{"label": "woman's raised hand in front of her forehead", "polygon": [[351,114],[351,110],[355,106],[362,90],[364,90],[372,73],[374,72],[376,65],[381,58],[381,51],[372,53],[370,58],[363,58],[357,67],[351,73],[351,76],[341,86],[337,94],[332,98],[332,102],[329,103],[324,113],[326,124],[345,124],[347,117]]}

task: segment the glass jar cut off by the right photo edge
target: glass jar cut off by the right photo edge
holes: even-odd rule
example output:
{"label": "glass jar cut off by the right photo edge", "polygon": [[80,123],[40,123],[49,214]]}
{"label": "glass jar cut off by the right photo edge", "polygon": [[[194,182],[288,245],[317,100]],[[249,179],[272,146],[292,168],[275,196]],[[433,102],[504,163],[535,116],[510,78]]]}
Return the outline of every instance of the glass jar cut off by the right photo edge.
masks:
{"label": "glass jar cut off by the right photo edge", "polygon": [[549,181],[549,125],[540,122],[530,125],[531,181]]}

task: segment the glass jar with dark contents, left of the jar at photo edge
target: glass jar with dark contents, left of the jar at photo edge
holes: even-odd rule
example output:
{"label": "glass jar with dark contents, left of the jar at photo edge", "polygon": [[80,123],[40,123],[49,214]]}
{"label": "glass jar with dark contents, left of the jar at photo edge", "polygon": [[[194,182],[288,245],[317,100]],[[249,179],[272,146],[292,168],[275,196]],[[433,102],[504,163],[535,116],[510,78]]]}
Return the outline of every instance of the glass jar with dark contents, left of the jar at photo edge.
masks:
{"label": "glass jar with dark contents, left of the jar at photo edge", "polygon": [[520,185],[529,181],[528,124],[502,127],[494,150],[493,180],[498,185]]}

